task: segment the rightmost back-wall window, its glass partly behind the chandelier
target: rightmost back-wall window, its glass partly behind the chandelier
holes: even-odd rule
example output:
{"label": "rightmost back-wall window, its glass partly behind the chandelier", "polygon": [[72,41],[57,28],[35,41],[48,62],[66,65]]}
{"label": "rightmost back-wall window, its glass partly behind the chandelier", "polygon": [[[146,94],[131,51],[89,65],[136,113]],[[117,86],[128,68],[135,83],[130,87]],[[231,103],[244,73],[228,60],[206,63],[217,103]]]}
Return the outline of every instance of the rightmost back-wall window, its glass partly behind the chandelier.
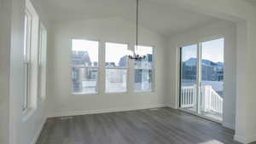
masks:
{"label": "rightmost back-wall window, its glass partly behind the chandelier", "polygon": [[137,49],[140,54],[146,55],[146,58],[135,60],[134,90],[151,91],[154,70],[153,48],[138,46]]}

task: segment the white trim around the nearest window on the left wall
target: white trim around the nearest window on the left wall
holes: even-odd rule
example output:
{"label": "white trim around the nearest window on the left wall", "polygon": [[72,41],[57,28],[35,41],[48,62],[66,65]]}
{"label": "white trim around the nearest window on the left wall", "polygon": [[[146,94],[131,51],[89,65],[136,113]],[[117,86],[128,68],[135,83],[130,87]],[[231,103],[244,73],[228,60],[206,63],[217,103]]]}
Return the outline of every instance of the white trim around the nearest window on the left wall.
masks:
{"label": "white trim around the nearest window on the left wall", "polygon": [[[29,39],[29,53],[28,57],[24,60],[24,64],[28,65],[29,73],[26,86],[24,89],[29,89],[29,95],[27,96],[27,107],[22,107],[23,118],[26,121],[38,107],[38,30],[39,30],[39,18],[36,10],[33,8],[30,0],[26,0],[25,13],[31,17],[31,31],[28,36]],[[25,67],[24,67],[25,68]],[[25,76],[25,73],[24,73]],[[25,94],[24,94],[25,96]],[[25,101],[25,100],[24,100]]]}

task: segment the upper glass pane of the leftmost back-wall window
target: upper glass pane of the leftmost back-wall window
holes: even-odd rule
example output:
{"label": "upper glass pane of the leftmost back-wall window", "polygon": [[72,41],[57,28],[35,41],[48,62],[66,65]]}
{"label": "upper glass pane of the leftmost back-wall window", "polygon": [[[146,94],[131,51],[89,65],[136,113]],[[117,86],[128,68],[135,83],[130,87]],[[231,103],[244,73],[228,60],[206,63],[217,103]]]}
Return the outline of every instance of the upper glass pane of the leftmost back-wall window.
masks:
{"label": "upper glass pane of the leftmost back-wall window", "polygon": [[99,43],[83,39],[73,39],[73,66],[98,66]]}

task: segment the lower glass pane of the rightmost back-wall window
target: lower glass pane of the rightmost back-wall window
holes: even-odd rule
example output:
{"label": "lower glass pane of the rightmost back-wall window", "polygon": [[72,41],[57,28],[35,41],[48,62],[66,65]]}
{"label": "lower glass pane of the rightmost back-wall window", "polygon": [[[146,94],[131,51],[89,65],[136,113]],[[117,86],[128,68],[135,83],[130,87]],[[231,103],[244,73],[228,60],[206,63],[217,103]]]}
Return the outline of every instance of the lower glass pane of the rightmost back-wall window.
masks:
{"label": "lower glass pane of the rightmost back-wall window", "polygon": [[152,89],[152,71],[137,69],[135,70],[135,91],[149,91]]}

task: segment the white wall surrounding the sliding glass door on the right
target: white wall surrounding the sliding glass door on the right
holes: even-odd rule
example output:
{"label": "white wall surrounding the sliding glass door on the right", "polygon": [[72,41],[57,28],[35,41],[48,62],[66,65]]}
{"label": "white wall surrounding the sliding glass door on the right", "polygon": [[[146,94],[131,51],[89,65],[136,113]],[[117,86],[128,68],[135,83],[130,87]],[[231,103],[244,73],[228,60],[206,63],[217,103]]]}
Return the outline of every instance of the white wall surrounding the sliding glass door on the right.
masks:
{"label": "white wall surrounding the sliding glass door on the right", "polygon": [[[179,47],[186,44],[199,43],[207,38],[224,37],[224,126],[235,129],[236,120],[236,24],[228,21],[216,21],[208,26],[183,32],[170,38],[168,65],[170,90],[169,104],[178,107],[178,59]],[[209,39],[210,40],[210,39]]]}

